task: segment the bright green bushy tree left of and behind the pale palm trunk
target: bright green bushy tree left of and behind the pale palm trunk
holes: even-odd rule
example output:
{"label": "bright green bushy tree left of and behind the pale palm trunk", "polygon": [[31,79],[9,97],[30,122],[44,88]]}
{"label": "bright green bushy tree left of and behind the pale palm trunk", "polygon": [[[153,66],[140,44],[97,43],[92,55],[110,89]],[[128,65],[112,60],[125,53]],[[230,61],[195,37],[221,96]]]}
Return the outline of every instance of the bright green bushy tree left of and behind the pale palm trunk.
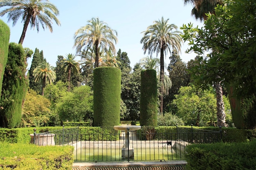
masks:
{"label": "bright green bushy tree left of and behind the pale palm trunk", "polygon": [[[195,86],[181,87],[179,95],[175,97],[173,104],[177,106],[176,115],[182,118],[186,125],[205,126],[207,121],[216,121],[216,95],[213,89],[197,91]],[[225,111],[229,113],[229,103],[227,99],[224,101]]]}

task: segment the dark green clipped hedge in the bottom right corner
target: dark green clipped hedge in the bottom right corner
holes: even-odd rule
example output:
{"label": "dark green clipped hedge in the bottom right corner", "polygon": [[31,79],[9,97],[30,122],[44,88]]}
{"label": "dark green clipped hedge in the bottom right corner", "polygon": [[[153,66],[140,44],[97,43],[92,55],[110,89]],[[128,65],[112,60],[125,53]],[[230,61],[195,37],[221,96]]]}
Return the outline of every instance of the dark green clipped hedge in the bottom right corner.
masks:
{"label": "dark green clipped hedge in the bottom right corner", "polygon": [[254,170],[256,141],[186,146],[186,170]]}

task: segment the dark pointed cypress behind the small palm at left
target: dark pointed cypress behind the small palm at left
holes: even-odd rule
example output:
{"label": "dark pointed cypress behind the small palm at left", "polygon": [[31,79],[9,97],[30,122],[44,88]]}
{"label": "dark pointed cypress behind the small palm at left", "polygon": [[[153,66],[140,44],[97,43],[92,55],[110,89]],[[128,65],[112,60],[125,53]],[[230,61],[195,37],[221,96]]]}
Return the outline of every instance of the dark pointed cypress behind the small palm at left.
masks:
{"label": "dark pointed cypress behind the small palm at left", "polygon": [[33,71],[40,63],[43,62],[44,58],[41,54],[43,54],[43,51],[41,51],[40,53],[39,49],[36,48],[29,69],[29,88],[33,89],[34,91],[40,94],[42,94],[42,84],[40,82],[34,81]]}

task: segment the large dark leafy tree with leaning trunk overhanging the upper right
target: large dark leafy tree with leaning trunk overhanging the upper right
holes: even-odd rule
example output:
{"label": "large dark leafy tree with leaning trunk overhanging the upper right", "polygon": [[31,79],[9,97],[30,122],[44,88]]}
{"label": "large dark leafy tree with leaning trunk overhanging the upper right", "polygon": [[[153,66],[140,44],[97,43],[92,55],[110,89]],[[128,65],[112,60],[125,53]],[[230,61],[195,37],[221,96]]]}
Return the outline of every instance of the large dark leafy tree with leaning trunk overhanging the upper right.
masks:
{"label": "large dark leafy tree with leaning trunk overhanging the upper right", "polygon": [[256,63],[253,57],[256,51],[255,19],[250,17],[256,7],[250,1],[240,0],[225,1],[225,4],[216,7],[216,15],[209,15],[204,28],[193,28],[191,24],[184,26],[185,37],[191,44],[191,50],[199,54],[213,47],[216,49],[208,60],[201,60],[202,64],[197,67],[201,77],[195,79],[198,82],[204,80],[201,85],[204,86],[218,80],[214,75],[221,77],[229,92],[234,124],[237,128],[246,128],[240,105],[241,99],[252,97],[253,100],[256,90],[253,74]]}

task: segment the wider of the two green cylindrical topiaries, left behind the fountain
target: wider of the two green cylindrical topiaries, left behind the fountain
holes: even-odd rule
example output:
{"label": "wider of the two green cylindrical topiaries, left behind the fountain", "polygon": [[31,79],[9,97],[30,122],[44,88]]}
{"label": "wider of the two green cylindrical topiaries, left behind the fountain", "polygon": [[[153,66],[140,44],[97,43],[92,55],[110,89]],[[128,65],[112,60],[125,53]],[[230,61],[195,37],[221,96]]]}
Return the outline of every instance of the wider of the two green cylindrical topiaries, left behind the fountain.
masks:
{"label": "wider of the two green cylindrical topiaries, left behind the fountain", "polygon": [[93,71],[94,126],[112,127],[120,123],[121,70],[98,67]]}

